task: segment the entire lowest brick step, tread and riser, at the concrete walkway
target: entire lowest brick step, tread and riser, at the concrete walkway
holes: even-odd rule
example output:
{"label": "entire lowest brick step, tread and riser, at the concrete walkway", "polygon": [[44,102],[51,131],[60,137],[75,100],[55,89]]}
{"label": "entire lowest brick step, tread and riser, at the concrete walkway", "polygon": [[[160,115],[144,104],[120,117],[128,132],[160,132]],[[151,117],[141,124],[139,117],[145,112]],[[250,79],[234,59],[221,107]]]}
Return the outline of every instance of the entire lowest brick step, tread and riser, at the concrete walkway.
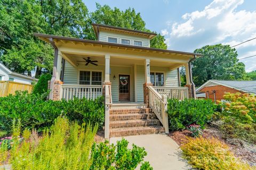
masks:
{"label": "entire lowest brick step, tread and riser, at the concrete walkway", "polygon": [[163,126],[140,126],[132,128],[116,128],[110,129],[110,137],[125,137],[130,135],[143,135],[143,134],[155,134],[164,133]]}

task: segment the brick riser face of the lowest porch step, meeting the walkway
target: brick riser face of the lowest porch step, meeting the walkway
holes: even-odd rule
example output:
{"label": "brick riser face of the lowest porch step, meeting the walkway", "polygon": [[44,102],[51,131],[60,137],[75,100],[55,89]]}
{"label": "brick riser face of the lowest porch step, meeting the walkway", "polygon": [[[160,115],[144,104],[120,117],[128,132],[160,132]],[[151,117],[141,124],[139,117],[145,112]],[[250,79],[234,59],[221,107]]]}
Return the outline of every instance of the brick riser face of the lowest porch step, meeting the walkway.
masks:
{"label": "brick riser face of the lowest porch step, meeting the walkway", "polygon": [[164,133],[164,129],[150,129],[147,131],[139,130],[139,131],[123,131],[123,132],[110,132],[110,138],[113,137],[126,137],[132,135],[144,135],[144,134],[157,134],[157,133]]}

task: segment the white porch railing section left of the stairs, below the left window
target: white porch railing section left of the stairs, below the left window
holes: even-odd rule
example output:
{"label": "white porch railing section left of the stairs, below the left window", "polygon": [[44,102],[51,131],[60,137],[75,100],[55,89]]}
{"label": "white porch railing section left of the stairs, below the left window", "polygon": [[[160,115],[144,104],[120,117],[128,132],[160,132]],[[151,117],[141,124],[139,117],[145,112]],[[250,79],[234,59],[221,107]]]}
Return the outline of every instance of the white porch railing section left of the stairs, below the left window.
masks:
{"label": "white porch railing section left of the stairs, below the left window", "polygon": [[74,97],[79,99],[95,99],[102,96],[101,85],[78,85],[78,84],[62,84],[60,98],[70,100]]}

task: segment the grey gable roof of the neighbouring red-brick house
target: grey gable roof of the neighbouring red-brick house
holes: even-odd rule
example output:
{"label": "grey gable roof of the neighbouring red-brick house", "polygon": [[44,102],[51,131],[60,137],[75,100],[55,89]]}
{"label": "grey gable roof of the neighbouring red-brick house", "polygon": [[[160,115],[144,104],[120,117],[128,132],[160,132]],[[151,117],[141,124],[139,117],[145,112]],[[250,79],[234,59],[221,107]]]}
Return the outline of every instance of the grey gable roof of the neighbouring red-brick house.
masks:
{"label": "grey gable roof of the neighbouring red-brick house", "polygon": [[222,85],[239,91],[256,94],[256,81],[235,81],[235,80],[209,80],[196,89],[200,91],[204,87]]}

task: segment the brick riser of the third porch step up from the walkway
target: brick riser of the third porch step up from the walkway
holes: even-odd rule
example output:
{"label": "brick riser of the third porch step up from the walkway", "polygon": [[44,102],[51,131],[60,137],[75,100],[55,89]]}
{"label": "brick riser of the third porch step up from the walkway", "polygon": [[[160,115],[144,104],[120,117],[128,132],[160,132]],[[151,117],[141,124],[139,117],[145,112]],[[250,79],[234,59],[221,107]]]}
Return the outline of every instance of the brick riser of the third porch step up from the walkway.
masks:
{"label": "brick riser of the third porch step up from the walkway", "polygon": [[147,120],[147,119],[155,119],[155,114],[146,114],[146,115],[110,115],[109,121],[128,121],[128,120]]}

